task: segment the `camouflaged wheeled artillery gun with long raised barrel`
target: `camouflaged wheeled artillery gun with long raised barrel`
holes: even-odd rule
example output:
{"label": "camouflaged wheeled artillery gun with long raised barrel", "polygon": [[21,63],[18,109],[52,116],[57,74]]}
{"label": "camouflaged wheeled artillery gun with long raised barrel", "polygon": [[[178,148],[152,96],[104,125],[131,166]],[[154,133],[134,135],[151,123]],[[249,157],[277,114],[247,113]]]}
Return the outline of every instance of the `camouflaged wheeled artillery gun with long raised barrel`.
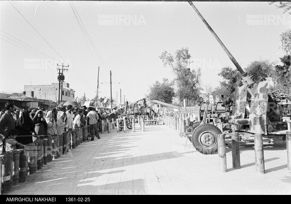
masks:
{"label": "camouflaged wheeled artillery gun with long raised barrel", "polygon": [[[258,84],[254,83],[253,79],[247,72],[243,71],[193,3],[189,2],[189,4],[240,72],[243,86],[237,87],[235,90],[232,114],[229,117],[227,117],[226,112],[223,115],[223,113],[217,110],[221,103],[216,105],[216,111],[218,112],[213,115],[210,112],[208,113],[209,102],[206,102],[203,110],[200,107],[200,113],[203,112],[202,121],[200,122],[199,119],[199,121],[190,123],[190,126],[188,124],[186,127],[188,131],[180,133],[180,136],[188,135],[195,149],[202,154],[212,154],[218,150],[218,134],[221,133],[224,133],[226,138],[229,138],[231,132],[236,131],[239,133],[240,141],[244,142],[253,142],[255,133],[262,134],[263,144],[273,144],[276,141],[283,142],[287,131],[286,120],[290,120],[291,96],[276,95],[278,90],[269,92],[269,81],[261,81]],[[249,114],[246,112],[248,105],[246,101],[247,92],[251,95]],[[221,110],[223,112],[223,108]],[[212,118],[212,120],[206,120],[207,118]]]}

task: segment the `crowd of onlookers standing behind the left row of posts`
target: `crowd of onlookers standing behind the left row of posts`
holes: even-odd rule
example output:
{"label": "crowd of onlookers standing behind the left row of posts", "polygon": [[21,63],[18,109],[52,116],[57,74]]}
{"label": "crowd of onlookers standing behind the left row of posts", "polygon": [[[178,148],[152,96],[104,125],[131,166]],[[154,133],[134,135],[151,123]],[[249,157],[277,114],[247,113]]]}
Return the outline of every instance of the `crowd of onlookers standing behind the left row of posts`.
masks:
{"label": "crowd of onlookers standing behind the left row of posts", "polygon": [[[61,135],[65,131],[89,126],[91,137],[100,139],[99,130],[102,120],[114,109],[78,107],[72,105],[62,108],[35,108],[16,110],[13,103],[6,103],[0,115],[0,136],[2,152],[24,147],[35,140]],[[113,114],[113,117],[116,117]],[[94,131],[93,131],[94,130]],[[17,137],[19,136],[19,137]]]}

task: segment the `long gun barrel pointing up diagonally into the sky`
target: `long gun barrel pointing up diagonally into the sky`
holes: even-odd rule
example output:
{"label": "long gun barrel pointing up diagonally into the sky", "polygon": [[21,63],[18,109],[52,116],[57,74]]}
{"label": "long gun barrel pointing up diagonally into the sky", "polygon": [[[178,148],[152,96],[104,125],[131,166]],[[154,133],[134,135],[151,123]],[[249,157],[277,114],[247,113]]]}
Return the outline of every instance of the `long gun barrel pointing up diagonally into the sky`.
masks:
{"label": "long gun barrel pointing up diagonally into the sky", "polygon": [[216,35],[216,33],[212,30],[212,28],[210,27],[210,25],[206,22],[206,20],[200,14],[200,12],[197,10],[197,8],[193,5],[193,3],[189,1],[189,4],[192,6],[192,8],[195,10],[195,12],[198,14],[198,16],[203,21],[203,23],[206,25],[206,27],[209,29],[209,31],[212,33],[212,35],[218,41],[218,43],[220,44],[220,46],[222,47],[222,49],[226,52],[226,54],[228,55],[228,57],[230,58],[230,60],[232,61],[232,63],[236,66],[236,68],[240,72],[241,77],[243,79],[242,80],[243,85],[247,88],[247,90],[249,91],[249,93],[251,95],[253,95],[253,91],[252,91],[252,88],[253,88],[253,85],[254,85],[253,79],[249,76],[249,74],[247,72],[243,71],[242,67],[239,65],[239,63],[236,61],[236,59],[232,56],[232,54],[228,51],[228,49],[225,47],[225,45],[222,43],[222,41],[219,39],[219,37]]}

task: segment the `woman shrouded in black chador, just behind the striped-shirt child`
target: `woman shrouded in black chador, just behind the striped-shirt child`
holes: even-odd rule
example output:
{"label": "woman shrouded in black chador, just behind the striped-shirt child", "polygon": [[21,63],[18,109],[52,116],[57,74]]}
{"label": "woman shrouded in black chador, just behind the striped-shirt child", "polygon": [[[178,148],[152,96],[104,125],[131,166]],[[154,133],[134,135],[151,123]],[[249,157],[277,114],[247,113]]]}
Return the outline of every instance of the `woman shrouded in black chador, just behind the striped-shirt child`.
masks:
{"label": "woman shrouded in black chador, just behind the striped-shirt child", "polygon": [[35,135],[35,125],[32,122],[32,119],[29,117],[28,111],[23,110],[20,120],[17,121],[19,122],[16,124],[15,129],[18,131],[18,135],[15,140],[24,145],[32,143],[32,138]]}

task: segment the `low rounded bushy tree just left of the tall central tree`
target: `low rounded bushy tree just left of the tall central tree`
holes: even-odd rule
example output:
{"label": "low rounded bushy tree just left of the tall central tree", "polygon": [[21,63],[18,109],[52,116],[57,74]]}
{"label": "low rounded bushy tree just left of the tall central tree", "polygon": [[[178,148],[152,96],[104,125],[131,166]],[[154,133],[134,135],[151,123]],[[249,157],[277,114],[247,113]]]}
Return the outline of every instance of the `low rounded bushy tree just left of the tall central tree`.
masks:
{"label": "low rounded bushy tree just left of the tall central tree", "polygon": [[155,84],[149,87],[149,95],[147,97],[150,100],[159,100],[168,104],[171,104],[173,97],[175,96],[175,91],[173,88],[173,83],[169,82],[168,79],[163,78],[163,83],[156,81]]}

